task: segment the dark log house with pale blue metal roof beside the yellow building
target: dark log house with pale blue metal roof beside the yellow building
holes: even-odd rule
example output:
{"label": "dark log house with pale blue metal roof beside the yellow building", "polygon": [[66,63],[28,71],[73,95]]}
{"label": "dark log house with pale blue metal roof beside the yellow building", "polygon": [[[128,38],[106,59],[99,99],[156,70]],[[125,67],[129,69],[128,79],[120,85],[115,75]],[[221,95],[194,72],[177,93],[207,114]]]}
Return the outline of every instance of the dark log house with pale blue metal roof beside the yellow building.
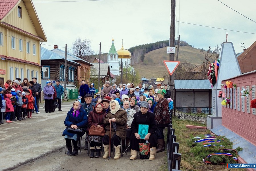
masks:
{"label": "dark log house with pale blue metal roof beside the yellow building", "polygon": [[[67,67],[65,67],[65,57],[43,47],[41,47],[41,60],[42,66],[46,68],[46,71],[42,72],[42,85],[45,85],[48,80],[60,80],[63,84],[66,81],[67,88],[76,88],[76,68],[81,64],[67,59]],[[64,70],[66,70],[66,76]]]}

